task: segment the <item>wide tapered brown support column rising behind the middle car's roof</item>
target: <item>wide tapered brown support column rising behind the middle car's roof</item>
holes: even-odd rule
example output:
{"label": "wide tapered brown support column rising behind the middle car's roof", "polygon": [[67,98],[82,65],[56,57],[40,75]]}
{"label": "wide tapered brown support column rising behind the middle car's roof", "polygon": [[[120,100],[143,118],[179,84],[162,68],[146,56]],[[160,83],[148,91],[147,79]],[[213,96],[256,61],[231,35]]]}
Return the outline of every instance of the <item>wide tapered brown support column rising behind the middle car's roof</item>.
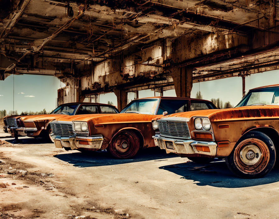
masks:
{"label": "wide tapered brown support column rising behind the middle car's roof", "polygon": [[177,97],[190,97],[193,86],[192,68],[174,68],[171,73]]}

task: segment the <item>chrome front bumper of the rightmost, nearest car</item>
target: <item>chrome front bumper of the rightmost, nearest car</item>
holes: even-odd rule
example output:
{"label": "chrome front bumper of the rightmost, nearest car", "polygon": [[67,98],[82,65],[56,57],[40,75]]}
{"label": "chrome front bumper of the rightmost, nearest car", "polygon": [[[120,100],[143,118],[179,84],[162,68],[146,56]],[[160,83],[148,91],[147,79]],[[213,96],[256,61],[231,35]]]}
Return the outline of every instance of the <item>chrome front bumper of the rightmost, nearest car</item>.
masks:
{"label": "chrome front bumper of the rightmost, nearest car", "polygon": [[[209,156],[216,156],[217,144],[215,142],[202,142],[196,140],[181,140],[174,138],[162,137],[159,134],[152,136],[154,138],[155,145],[161,149],[165,149],[167,153],[173,152],[176,154],[203,154]],[[173,149],[166,147],[166,141],[173,143]],[[210,152],[197,150],[197,146],[209,147]]]}

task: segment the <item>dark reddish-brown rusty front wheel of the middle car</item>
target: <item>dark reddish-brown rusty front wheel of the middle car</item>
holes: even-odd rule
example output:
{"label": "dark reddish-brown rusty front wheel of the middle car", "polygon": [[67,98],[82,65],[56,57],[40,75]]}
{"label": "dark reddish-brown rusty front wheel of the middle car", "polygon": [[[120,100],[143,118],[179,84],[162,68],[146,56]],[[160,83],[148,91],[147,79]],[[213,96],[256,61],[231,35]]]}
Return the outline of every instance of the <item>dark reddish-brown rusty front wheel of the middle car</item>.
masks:
{"label": "dark reddish-brown rusty front wheel of the middle car", "polygon": [[128,159],[138,152],[139,142],[139,137],[133,131],[121,131],[112,139],[108,151],[116,158]]}

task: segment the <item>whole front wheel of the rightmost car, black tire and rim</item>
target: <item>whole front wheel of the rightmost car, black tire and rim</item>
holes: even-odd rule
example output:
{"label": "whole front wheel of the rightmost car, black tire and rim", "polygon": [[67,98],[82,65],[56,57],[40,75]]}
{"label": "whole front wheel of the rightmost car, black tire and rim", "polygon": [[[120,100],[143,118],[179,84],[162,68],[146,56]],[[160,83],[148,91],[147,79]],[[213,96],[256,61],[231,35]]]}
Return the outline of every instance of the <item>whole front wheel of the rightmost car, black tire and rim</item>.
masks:
{"label": "whole front wheel of the rightmost car, black tire and rim", "polygon": [[251,131],[242,136],[235,145],[234,150],[225,158],[229,170],[235,175],[254,179],[263,177],[272,170],[276,151],[272,140],[266,134]]}

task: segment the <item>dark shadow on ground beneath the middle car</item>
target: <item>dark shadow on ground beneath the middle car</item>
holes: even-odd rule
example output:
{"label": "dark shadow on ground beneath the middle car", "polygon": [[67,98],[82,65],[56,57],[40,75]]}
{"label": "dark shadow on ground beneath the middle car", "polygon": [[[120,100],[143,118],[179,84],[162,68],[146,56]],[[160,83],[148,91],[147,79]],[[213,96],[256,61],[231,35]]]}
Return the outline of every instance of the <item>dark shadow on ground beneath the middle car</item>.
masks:
{"label": "dark shadow on ground beneath the middle car", "polygon": [[73,164],[77,167],[92,167],[92,166],[109,166],[117,164],[126,164],[140,161],[151,160],[166,160],[168,158],[177,157],[176,154],[166,154],[166,151],[161,150],[158,147],[144,148],[139,150],[137,155],[132,159],[116,159],[106,151],[96,152],[73,152],[65,154],[57,154],[54,157]]}

